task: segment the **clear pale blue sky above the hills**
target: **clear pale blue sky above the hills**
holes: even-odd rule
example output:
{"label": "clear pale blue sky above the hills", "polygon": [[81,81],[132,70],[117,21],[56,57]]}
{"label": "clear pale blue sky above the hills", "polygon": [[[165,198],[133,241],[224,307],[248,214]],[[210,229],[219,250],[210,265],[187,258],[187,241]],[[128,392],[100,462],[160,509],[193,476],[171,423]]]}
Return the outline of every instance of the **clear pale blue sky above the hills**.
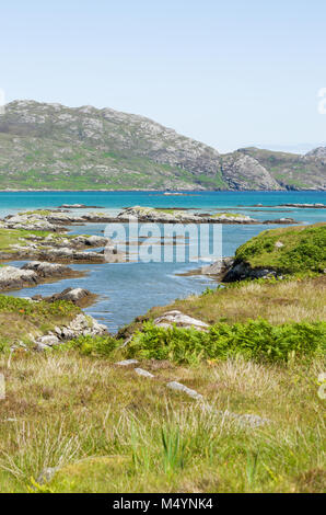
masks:
{"label": "clear pale blue sky above the hills", "polygon": [[326,141],[324,0],[12,0],[0,88],[137,113],[220,151]]}

